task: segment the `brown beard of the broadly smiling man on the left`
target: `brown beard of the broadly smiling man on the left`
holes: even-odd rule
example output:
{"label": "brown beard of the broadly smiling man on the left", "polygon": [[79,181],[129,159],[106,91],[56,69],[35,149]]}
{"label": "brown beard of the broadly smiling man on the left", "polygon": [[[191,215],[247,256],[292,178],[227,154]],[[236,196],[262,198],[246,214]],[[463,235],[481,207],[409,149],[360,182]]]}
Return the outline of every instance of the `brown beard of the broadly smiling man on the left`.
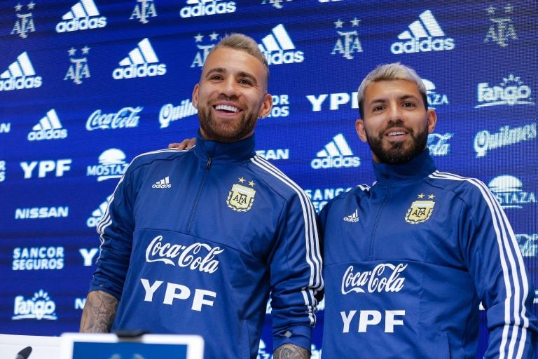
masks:
{"label": "brown beard of the broadly smiling man on the left", "polygon": [[236,126],[226,126],[215,121],[214,116],[212,116],[207,107],[200,107],[198,109],[198,120],[200,121],[202,133],[204,133],[207,140],[231,143],[242,140],[249,135],[254,130],[258,117],[252,112],[247,112],[243,114]]}

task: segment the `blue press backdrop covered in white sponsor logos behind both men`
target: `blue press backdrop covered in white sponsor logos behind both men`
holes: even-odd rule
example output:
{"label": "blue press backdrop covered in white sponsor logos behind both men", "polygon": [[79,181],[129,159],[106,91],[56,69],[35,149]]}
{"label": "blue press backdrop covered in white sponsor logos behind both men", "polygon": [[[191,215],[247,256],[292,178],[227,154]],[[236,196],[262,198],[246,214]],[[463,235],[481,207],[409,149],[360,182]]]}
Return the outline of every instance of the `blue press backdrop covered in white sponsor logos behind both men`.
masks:
{"label": "blue press backdrop covered in white sponsor logos behind both men", "polygon": [[[0,332],[78,330],[108,196],[134,156],[193,137],[193,86],[230,32],[270,62],[258,153],[317,209],[373,182],[359,81],[382,62],[415,68],[437,165],[494,191],[538,287],[537,22],[534,0],[2,1]],[[268,314],[260,358],[271,346]]]}

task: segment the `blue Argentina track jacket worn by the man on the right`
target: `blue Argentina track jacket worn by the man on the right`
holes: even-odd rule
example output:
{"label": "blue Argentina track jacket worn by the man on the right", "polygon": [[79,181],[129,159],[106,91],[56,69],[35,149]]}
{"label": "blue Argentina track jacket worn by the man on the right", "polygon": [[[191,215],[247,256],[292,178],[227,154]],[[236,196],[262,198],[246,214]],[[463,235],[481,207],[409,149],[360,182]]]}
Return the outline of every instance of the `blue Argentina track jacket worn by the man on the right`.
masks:
{"label": "blue Argentina track jacket worn by the man on the right", "polygon": [[437,171],[427,151],[374,171],[320,214],[323,359],[474,359],[480,302],[485,358],[532,358],[534,290],[488,187]]}

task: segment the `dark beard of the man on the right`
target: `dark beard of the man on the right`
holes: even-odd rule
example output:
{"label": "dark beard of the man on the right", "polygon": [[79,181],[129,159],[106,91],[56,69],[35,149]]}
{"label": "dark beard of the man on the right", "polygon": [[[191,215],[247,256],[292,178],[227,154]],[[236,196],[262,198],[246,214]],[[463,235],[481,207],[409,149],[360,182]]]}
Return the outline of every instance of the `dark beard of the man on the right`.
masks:
{"label": "dark beard of the man on the right", "polygon": [[[394,126],[390,127],[396,127],[397,125],[398,124],[395,124]],[[425,150],[428,142],[428,131],[420,131],[420,133],[415,135],[411,128],[406,128],[406,130],[408,130],[409,135],[411,135],[411,144],[404,141],[388,142],[387,147],[389,148],[387,149],[383,148],[382,136],[374,137],[366,133],[368,145],[370,146],[373,154],[378,157],[380,163],[388,163],[389,165],[400,165],[402,163],[407,163]]]}

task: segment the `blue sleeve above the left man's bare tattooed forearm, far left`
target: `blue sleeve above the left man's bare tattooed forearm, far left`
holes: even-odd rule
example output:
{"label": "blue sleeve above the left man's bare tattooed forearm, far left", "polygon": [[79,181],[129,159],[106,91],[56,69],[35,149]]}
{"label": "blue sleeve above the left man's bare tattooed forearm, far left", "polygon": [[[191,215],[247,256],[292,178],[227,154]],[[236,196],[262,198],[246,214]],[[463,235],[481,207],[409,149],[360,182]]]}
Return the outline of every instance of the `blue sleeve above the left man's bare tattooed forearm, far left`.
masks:
{"label": "blue sleeve above the left man's bare tattooed forearm, far left", "polygon": [[120,299],[129,266],[132,232],[135,228],[132,194],[132,164],[118,182],[109,205],[97,224],[101,245],[97,269],[93,273],[90,291],[103,290]]}

